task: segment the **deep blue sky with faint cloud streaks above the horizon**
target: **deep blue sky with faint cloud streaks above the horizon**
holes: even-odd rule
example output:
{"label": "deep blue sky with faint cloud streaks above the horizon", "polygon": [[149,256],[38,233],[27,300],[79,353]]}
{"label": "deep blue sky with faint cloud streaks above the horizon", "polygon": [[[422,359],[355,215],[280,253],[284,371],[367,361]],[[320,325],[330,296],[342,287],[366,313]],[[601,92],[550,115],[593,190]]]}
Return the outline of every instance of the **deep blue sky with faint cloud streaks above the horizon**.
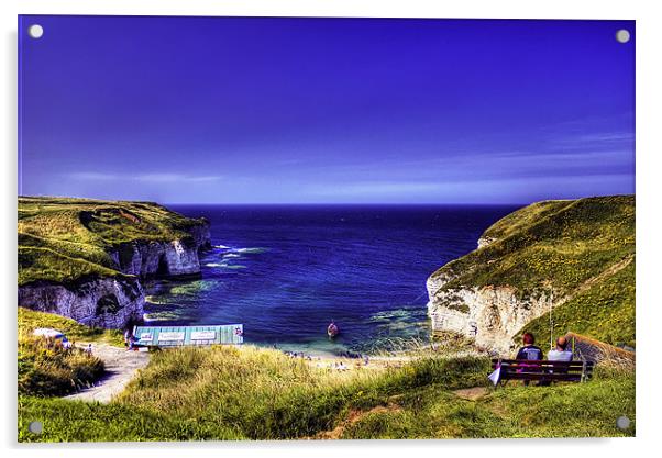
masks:
{"label": "deep blue sky with faint cloud streaks above the horizon", "polygon": [[22,16],[19,33],[22,194],[635,192],[632,21]]}

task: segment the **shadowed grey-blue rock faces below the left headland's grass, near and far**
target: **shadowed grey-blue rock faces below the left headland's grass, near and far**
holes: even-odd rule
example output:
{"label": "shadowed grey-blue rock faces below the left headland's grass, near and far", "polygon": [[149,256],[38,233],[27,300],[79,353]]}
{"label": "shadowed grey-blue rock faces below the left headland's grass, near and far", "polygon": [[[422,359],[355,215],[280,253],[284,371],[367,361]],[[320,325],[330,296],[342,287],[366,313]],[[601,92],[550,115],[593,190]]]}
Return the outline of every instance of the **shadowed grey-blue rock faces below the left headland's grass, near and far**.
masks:
{"label": "shadowed grey-blue rock faces below the left headland's grass, near and far", "polygon": [[200,273],[199,252],[211,246],[209,223],[170,242],[133,241],[110,250],[123,275],[80,279],[71,284],[32,282],[19,287],[19,305],[68,316],[88,326],[123,328],[141,321],[145,294],[141,280]]}

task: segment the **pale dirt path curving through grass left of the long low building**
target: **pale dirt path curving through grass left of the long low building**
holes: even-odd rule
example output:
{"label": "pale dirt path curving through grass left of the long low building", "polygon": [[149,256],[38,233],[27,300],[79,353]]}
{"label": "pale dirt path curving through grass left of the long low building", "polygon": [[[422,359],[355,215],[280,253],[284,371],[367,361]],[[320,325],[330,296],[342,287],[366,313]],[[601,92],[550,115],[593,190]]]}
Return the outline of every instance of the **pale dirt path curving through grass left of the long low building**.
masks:
{"label": "pale dirt path curving through grass left of the long low building", "polygon": [[[87,344],[82,345],[87,346]],[[97,381],[95,387],[65,396],[65,399],[98,401],[107,404],[124,389],[139,369],[150,362],[150,354],[146,351],[126,351],[124,348],[108,344],[92,344],[92,354],[106,364],[106,375]]]}

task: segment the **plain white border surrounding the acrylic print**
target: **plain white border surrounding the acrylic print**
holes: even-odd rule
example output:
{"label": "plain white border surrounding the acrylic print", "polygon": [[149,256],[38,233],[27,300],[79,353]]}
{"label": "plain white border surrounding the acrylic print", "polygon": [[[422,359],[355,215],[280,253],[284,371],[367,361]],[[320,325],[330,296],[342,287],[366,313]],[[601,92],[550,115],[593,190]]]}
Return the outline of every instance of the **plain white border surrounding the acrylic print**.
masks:
{"label": "plain white border surrounding the acrylic print", "polygon": [[[1,170],[2,192],[2,262],[0,279],[4,299],[2,311],[3,345],[1,378],[2,438],[12,455],[31,456],[66,454],[68,457],[117,457],[126,453],[151,453],[161,457],[181,457],[183,453],[217,453],[232,456],[269,455],[271,457],[330,457],[339,454],[379,454],[385,457],[413,451],[420,455],[473,455],[544,457],[566,454],[600,454],[635,456],[653,446],[659,436],[657,420],[660,413],[660,354],[655,327],[661,325],[662,303],[655,289],[661,258],[657,224],[661,213],[660,200],[660,113],[662,98],[661,59],[662,15],[654,1],[633,0],[465,0],[462,2],[419,0],[24,0],[0,2],[2,9],[3,101],[0,129],[3,150]],[[335,443],[212,443],[212,444],[71,444],[66,446],[26,447],[15,443],[15,194],[16,194],[16,14],[139,14],[139,15],[291,15],[291,16],[382,16],[382,18],[522,18],[522,19],[629,19],[637,20],[637,435],[636,439],[507,439],[507,440],[398,440],[398,442],[335,442]],[[618,395],[616,393],[616,395]],[[129,451],[126,448],[140,448]],[[153,451],[152,451],[153,453]]]}

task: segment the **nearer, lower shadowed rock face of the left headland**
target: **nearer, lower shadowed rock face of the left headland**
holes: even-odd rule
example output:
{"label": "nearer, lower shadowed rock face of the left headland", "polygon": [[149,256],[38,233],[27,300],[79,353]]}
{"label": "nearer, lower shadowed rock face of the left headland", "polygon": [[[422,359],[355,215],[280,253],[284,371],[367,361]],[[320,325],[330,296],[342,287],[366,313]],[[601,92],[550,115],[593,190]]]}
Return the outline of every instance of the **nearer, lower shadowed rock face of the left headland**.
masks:
{"label": "nearer, lower shadowed rock face of the left headland", "polygon": [[98,278],[74,284],[35,282],[19,288],[19,304],[68,316],[88,326],[122,328],[142,320],[145,295],[137,278]]}

